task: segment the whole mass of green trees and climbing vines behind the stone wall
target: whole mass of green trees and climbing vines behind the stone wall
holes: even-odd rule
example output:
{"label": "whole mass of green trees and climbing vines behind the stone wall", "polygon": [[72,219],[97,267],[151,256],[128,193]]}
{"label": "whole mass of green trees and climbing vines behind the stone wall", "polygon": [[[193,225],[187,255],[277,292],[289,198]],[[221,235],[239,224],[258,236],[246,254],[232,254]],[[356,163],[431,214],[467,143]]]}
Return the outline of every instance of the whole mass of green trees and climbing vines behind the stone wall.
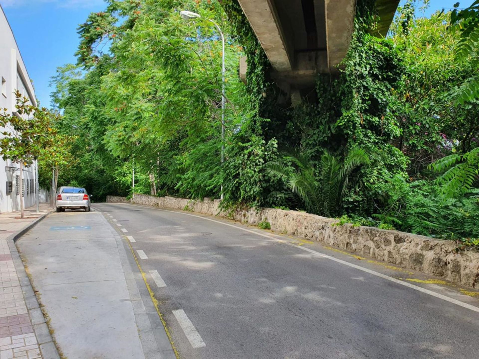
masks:
{"label": "whole mass of green trees and climbing vines behind the stone wall", "polygon": [[[218,198],[223,188],[225,206],[477,236],[479,102],[464,93],[478,74],[478,3],[430,18],[417,5],[378,38],[376,1],[358,0],[337,74],[319,74],[293,107],[237,0],[107,0],[79,27],[78,64],[52,79],[55,127],[77,160],[58,180],[101,200],[131,194],[134,168],[144,193]],[[227,41],[223,165],[221,39],[208,19]]]}

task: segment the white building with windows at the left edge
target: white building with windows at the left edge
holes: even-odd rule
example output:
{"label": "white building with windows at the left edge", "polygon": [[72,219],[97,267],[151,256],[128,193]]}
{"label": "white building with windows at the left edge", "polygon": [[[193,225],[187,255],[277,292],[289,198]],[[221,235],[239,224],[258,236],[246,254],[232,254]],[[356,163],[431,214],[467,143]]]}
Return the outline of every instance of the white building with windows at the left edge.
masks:
{"label": "white building with windows at the left edge", "polygon": [[[0,5],[0,111],[15,112],[16,97],[19,90],[36,106],[35,92],[30,82],[22,55],[11,31],[5,12]],[[0,132],[3,128],[0,127]],[[3,136],[0,134],[0,136]],[[20,166],[0,157],[0,213],[20,211]],[[23,169],[23,203],[25,208],[35,202],[35,165]]]}

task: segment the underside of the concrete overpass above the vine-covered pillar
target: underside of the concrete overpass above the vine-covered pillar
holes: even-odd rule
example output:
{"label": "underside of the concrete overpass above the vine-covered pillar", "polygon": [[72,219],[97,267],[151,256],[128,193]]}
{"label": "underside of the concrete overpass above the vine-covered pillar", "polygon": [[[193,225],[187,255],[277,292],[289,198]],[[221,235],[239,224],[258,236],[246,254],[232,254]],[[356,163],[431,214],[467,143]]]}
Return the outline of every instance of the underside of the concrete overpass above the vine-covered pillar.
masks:
{"label": "underside of the concrete overpass above the vine-covered pillar", "polygon": [[[386,36],[398,3],[376,1],[378,36]],[[273,78],[284,89],[311,88],[318,73],[334,73],[346,55],[356,0],[239,0],[239,4],[273,66]]]}

